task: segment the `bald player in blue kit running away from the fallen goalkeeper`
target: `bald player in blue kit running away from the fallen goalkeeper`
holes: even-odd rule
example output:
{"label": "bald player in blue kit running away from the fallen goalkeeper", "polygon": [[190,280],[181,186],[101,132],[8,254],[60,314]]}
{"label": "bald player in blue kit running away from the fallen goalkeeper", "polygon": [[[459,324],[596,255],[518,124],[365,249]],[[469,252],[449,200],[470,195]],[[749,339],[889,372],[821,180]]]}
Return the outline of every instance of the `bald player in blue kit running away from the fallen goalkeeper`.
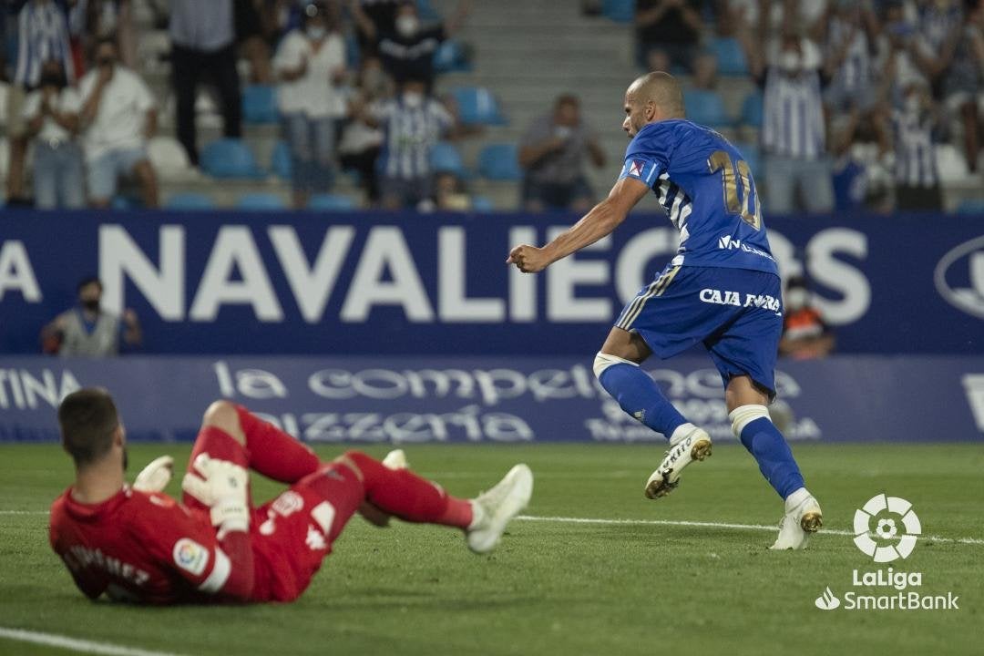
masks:
{"label": "bald player in blue kit running away from the fallen goalkeeper", "polygon": [[669,74],[633,82],[625,113],[622,128],[632,142],[608,198],[546,246],[517,246],[507,263],[540,271],[611,233],[654,192],[680,231],[677,254],[622,311],[594,373],[623,410],[669,438],[646,481],[646,497],[658,499],[680,484],[687,465],[710,455],[711,443],[640,364],[652,353],[665,359],[702,342],[724,381],[735,436],[785,503],[771,548],[803,549],[823,515],[769,418],[782,292],[752,172],[727,140],[685,119],[683,93]]}

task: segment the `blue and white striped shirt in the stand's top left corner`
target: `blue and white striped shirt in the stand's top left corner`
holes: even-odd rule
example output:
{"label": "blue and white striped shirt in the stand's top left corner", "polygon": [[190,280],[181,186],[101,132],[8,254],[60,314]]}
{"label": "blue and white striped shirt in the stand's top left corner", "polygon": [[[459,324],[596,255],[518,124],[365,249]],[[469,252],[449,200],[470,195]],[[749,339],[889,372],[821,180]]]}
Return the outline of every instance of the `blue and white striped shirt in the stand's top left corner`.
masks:
{"label": "blue and white striped shirt in the stand's top left corner", "polygon": [[22,87],[36,86],[41,79],[41,66],[51,59],[62,63],[69,83],[75,82],[65,13],[53,1],[34,0],[24,6],[18,17],[17,70],[14,81]]}

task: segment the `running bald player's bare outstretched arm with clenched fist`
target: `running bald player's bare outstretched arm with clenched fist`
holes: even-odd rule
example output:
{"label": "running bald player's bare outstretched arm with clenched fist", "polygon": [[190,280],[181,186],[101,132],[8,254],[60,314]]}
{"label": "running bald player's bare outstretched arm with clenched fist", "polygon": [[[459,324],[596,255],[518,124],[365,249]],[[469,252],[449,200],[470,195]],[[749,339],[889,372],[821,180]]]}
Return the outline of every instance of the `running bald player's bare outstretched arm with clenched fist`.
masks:
{"label": "running bald player's bare outstretched arm with clenched fist", "polygon": [[611,234],[648,191],[649,186],[645,182],[631,177],[622,178],[612,187],[608,198],[584,214],[570,229],[542,248],[528,244],[517,246],[510,252],[506,264],[516,265],[523,273],[535,273],[590,246]]}

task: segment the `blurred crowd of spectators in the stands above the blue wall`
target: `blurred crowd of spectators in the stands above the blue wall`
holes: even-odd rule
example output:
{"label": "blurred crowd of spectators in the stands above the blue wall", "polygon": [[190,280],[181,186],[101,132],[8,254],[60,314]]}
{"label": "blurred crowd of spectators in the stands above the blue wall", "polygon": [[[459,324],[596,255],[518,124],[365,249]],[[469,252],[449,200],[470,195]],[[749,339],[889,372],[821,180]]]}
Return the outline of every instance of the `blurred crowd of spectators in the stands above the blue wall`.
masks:
{"label": "blurred crowd of spectators in the stands above the blue wall", "polygon": [[[138,4],[152,16],[146,31]],[[976,179],[982,4],[585,0],[582,10],[617,19],[621,7],[639,68],[683,76],[698,122],[723,129],[729,121],[720,118],[720,89],[731,79],[722,73],[754,81],[761,90],[742,107],[758,142],[753,169],[769,212],[789,213],[942,209],[943,183],[953,177],[938,167],[943,143],[962,153],[957,175]],[[487,89],[438,93],[435,82],[442,71],[481,67],[480,53],[459,38],[468,0],[452,5],[447,20],[426,0],[5,6],[0,149],[8,152],[0,154],[8,206],[154,208],[160,176],[174,171],[260,179],[266,171],[243,125],[267,122],[282,131],[272,168],[289,180],[294,208],[348,207],[330,194],[340,172],[359,181],[366,207],[488,207],[467,193],[455,144],[501,122],[495,98]],[[160,72],[164,98],[146,79]],[[214,92],[203,92],[206,82]],[[588,184],[586,164],[603,166],[604,152],[576,95],[543,103],[519,143],[483,150],[479,168],[515,184],[523,209],[585,209],[602,191]],[[161,114],[173,116],[172,130],[158,130]],[[200,148],[205,115],[220,117],[223,139]],[[186,207],[208,206],[184,196]]]}

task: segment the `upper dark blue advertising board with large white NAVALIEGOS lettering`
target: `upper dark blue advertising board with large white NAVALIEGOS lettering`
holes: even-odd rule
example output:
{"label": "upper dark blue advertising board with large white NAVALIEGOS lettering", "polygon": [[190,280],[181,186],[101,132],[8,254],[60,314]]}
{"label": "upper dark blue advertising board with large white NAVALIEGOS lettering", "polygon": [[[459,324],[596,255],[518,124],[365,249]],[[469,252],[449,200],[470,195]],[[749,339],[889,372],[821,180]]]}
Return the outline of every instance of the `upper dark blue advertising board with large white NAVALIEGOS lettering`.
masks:
{"label": "upper dark blue advertising board with large white NAVALIEGOS lettering", "polygon": [[[541,274],[505,265],[577,218],[2,211],[0,353],[37,353],[97,273],[145,353],[584,356],[677,235],[633,214]],[[775,218],[769,239],[784,276],[813,279],[839,352],[984,355],[984,216]]]}

